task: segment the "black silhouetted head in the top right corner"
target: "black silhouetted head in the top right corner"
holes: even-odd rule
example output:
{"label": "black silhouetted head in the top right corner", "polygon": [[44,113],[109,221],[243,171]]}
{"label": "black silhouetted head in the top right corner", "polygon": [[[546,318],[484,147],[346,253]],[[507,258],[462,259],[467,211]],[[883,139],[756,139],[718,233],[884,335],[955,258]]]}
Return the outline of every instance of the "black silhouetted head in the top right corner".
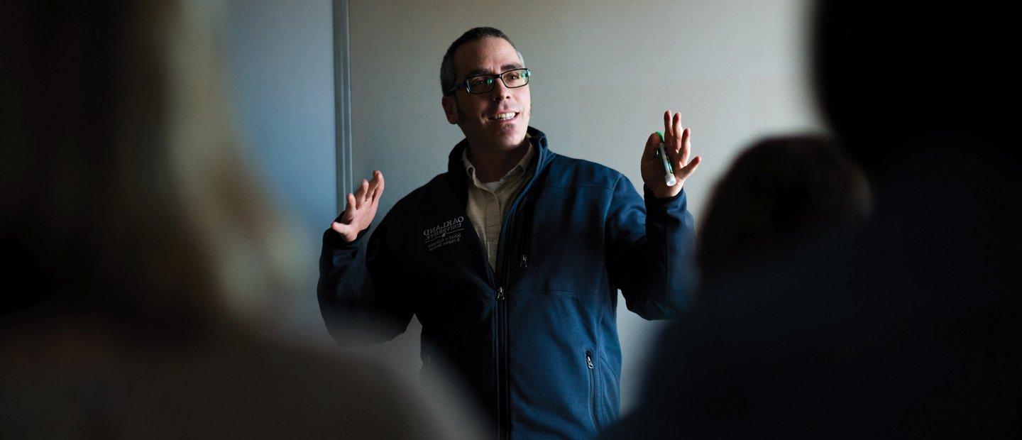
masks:
{"label": "black silhouetted head in the top right corner", "polygon": [[886,151],[940,130],[988,138],[1006,132],[1015,57],[1003,6],[823,0],[815,82],[824,117],[865,167]]}

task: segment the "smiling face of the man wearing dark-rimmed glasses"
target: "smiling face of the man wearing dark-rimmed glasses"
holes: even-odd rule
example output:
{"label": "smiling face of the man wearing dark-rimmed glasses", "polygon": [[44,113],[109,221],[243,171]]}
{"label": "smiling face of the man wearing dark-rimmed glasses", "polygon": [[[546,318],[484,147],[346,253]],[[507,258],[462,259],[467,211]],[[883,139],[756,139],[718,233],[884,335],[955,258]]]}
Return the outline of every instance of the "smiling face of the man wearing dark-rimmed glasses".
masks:
{"label": "smiling face of the man wearing dark-rimmed glasses", "polygon": [[459,87],[443,99],[448,121],[461,128],[469,145],[483,151],[507,151],[522,145],[532,110],[528,86],[508,89],[496,80],[494,90],[479,94],[470,94],[463,87],[468,77],[524,67],[511,43],[502,38],[466,43],[455,52],[454,65]]}

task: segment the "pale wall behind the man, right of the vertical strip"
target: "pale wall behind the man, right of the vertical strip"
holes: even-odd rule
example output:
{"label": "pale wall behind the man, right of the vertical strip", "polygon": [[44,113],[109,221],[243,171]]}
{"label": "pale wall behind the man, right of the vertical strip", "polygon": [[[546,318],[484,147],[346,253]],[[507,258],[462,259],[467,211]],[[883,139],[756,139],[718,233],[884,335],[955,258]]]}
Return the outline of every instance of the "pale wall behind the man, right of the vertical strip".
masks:
{"label": "pale wall behind the man, right of the vertical strip", "polygon": [[[691,127],[704,162],[686,183],[698,222],[729,160],[770,133],[819,131],[807,80],[806,0],[353,1],[354,173],[387,179],[381,213],[446,169],[462,139],[439,105],[444,52],[472,27],[504,31],[532,68],[531,125],[551,149],[616,168],[641,185],[639,156],[664,109]],[[661,328],[629,312],[622,409]],[[377,350],[419,368],[417,323]]]}

